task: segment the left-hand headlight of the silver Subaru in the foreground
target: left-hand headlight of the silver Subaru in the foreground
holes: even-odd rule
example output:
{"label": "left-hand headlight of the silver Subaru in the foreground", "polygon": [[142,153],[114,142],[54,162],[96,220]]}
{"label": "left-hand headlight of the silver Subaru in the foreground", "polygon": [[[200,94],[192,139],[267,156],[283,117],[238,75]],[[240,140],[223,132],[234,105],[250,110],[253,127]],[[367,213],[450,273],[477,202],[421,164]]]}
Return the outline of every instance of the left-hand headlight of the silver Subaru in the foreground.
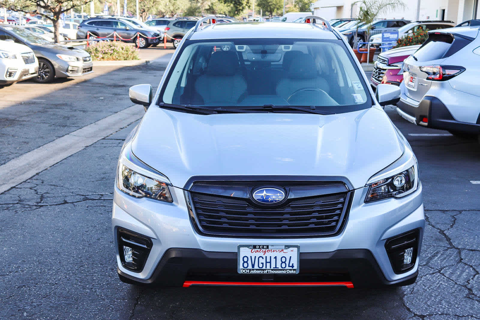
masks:
{"label": "left-hand headlight of the silver Subaru in the foreground", "polygon": [[122,151],[117,167],[117,186],[137,198],[151,198],[172,202],[167,177],[146,166],[132,152]]}

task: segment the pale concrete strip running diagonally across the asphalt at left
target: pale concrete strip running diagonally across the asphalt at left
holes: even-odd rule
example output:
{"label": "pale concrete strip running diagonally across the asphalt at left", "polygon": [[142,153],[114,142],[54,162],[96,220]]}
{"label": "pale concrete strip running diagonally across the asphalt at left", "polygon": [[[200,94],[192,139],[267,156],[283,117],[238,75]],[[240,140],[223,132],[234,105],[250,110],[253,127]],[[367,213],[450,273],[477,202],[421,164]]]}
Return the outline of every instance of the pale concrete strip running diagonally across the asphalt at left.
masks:
{"label": "pale concrete strip running diagonally across the asphalt at left", "polygon": [[0,193],[127,127],[144,113],[140,106],[128,107],[10,160],[0,166]]}

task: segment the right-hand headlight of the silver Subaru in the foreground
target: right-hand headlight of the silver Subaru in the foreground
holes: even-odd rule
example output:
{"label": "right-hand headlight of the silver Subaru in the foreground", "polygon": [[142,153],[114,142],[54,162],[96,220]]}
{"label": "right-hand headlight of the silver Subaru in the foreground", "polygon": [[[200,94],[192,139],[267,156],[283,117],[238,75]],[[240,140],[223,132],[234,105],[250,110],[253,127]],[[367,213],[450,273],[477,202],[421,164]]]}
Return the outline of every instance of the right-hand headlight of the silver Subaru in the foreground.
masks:
{"label": "right-hand headlight of the silver Subaru in the foreground", "polygon": [[417,159],[411,149],[406,147],[400,159],[370,178],[365,202],[405,197],[417,190],[418,186]]}

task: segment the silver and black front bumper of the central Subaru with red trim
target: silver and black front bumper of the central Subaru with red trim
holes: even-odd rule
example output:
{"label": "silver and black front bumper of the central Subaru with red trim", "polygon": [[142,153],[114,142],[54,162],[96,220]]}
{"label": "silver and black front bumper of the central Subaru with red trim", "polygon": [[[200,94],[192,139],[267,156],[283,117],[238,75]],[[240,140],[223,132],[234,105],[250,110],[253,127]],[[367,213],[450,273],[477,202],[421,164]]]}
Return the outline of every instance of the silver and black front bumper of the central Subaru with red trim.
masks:
{"label": "silver and black front bumper of the central Subaru with red trim", "polygon": [[[349,279],[354,286],[408,284],[408,281],[415,281],[425,225],[421,186],[405,198],[372,203],[364,203],[368,188],[355,190],[348,220],[340,234],[288,240],[199,235],[189,218],[184,190],[175,187],[169,189],[172,203],[133,198],[115,187],[112,212],[115,247],[118,248],[119,227],[149,237],[152,241],[144,268],[139,273],[123,267],[117,249],[120,276],[136,283],[163,285],[183,285],[185,281],[193,280],[192,277],[247,279],[251,275],[236,272],[239,244],[274,245],[288,242],[300,245],[300,274],[297,280],[305,278],[307,274],[312,279],[329,274],[334,279]],[[415,265],[406,273],[396,274],[385,250],[385,242],[388,238],[413,229],[420,232]],[[312,269],[316,270],[316,275],[311,274]],[[319,269],[324,272],[318,274]],[[302,273],[305,274],[302,276]],[[283,279],[278,278],[280,275],[275,277],[275,281]],[[293,277],[295,279],[295,275]],[[288,279],[290,281],[292,278]]]}

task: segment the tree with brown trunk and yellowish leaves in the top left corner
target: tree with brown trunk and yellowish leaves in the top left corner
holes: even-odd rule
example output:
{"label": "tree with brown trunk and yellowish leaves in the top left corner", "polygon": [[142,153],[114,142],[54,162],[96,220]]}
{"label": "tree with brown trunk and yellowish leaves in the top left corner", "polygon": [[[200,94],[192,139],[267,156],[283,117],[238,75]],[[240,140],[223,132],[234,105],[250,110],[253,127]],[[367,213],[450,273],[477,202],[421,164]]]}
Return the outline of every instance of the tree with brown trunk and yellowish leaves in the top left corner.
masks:
{"label": "tree with brown trunk and yellowish leaves in the top left corner", "polygon": [[[81,7],[91,0],[0,0],[0,7],[29,14],[40,14],[53,24],[55,42],[60,41],[60,16],[71,9]],[[39,12],[37,8],[46,13]],[[51,15],[50,15],[51,14]]]}

